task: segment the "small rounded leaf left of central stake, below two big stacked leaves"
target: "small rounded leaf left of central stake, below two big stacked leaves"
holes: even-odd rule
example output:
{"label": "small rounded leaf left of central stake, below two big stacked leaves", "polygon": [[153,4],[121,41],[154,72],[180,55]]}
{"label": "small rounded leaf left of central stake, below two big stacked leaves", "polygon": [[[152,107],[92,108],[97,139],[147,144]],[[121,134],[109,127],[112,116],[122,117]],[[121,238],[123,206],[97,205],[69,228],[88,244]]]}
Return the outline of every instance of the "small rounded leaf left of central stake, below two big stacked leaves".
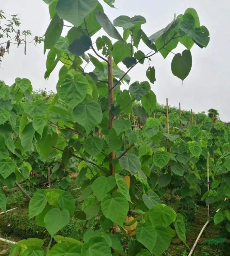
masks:
{"label": "small rounded leaf left of central stake, below two big stacked leaves", "polygon": [[103,149],[103,139],[99,137],[88,137],[85,139],[83,143],[83,147],[85,151],[90,154],[91,156],[97,156],[99,153],[102,152]]}

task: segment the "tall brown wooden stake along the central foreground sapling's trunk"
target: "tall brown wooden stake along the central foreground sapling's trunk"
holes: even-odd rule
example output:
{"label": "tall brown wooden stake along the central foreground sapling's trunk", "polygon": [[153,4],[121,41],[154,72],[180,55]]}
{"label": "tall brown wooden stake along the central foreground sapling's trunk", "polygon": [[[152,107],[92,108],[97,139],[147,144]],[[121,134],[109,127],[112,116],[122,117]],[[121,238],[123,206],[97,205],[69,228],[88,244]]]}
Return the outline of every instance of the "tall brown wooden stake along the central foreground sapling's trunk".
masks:
{"label": "tall brown wooden stake along the central foreground sapling's trunk", "polygon": [[[111,108],[113,105],[113,77],[112,77],[112,55],[109,55],[108,58],[108,77],[109,77],[109,86],[108,86],[108,110],[109,110],[109,129],[112,129],[114,122],[114,115],[112,114]],[[115,152],[112,151],[109,159],[109,170],[112,175],[115,174],[115,166],[112,165],[112,160],[115,159]]]}

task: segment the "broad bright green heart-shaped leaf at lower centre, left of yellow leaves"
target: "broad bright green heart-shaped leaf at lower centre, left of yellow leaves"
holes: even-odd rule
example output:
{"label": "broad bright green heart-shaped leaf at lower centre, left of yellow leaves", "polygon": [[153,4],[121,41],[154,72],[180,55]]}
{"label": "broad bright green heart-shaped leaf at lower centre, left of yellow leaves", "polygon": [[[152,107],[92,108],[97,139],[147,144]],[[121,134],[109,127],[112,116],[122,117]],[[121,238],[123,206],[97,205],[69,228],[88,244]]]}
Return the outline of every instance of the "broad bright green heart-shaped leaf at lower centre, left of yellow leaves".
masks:
{"label": "broad bright green heart-shaped leaf at lower centre, left of yellow leaves", "polygon": [[128,201],[121,193],[107,194],[102,198],[102,213],[119,226],[123,226],[128,213]]}

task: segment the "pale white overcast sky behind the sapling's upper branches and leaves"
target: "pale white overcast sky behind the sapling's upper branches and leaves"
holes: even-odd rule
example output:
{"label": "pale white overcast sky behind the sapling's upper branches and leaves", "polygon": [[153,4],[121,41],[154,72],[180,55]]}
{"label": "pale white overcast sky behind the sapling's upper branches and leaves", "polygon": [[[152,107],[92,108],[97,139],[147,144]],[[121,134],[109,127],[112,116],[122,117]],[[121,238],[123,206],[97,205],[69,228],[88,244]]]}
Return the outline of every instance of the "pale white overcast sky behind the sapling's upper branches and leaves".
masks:
{"label": "pale white overcast sky behind the sapling's upper branches and leaves", "polygon": [[[42,0],[0,0],[0,3],[0,9],[6,14],[19,14],[21,29],[30,29],[33,35],[45,33],[50,21],[48,5]],[[105,4],[103,6],[110,20],[120,15],[144,16],[147,24],[142,25],[142,28],[147,35],[165,27],[173,19],[174,13],[178,15],[189,7],[195,8],[201,25],[209,29],[208,47],[201,49],[194,45],[191,49],[193,66],[183,86],[181,80],[171,73],[173,54],[166,59],[156,54],[151,62],[157,79],[152,90],[160,104],[165,104],[168,97],[170,105],[178,106],[181,102],[182,108],[186,110],[207,112],[208,109],[215,108],[219,111],[221,120],[230,122],[229,0],[116,0],[117,9],[108,8]],[[179,46],[173,52],[178,53],[183,49],[184,47]],[[141,50],[145,53],[149,51],[145,47],[141,47]],[[44,80],[46,56],[43,56],[43,45],[35,47],[30,44],[27,46],[26,56],[23,52],[23,46],[17,49],[15,45],[11,45],[10,54],[5,56],[1,64],[0,80],[11,85],[15,77],[27,77],[34,89],[55,91],[59,68],[55,69],[47,81]],[[137,65],[130,73],[132,82],[146,80],[147,68],[147,61],[144,65]]]}

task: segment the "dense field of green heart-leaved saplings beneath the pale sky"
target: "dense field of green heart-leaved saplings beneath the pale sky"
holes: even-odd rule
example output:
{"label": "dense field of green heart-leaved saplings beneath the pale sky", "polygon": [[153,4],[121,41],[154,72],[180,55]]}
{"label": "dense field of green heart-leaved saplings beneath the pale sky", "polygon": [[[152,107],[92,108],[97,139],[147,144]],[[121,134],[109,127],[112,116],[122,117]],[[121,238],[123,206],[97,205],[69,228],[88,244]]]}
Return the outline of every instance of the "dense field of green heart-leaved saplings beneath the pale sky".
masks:
{"label": "dense field of green heart-leaved saplings beneath the pale sky", "polygon": [[191,47],[208,46],[196,10],[147,36],[143,16],[109,20],[114,0],[43,2],[44,37],[29,41],[17,16],[0,26],[1,65],[28,42],[44,44],[45,79],[61,64],[55,93],[0,80],[0,255],[229,255],[230,126],[152,90],[155,54],[183,83]]}

